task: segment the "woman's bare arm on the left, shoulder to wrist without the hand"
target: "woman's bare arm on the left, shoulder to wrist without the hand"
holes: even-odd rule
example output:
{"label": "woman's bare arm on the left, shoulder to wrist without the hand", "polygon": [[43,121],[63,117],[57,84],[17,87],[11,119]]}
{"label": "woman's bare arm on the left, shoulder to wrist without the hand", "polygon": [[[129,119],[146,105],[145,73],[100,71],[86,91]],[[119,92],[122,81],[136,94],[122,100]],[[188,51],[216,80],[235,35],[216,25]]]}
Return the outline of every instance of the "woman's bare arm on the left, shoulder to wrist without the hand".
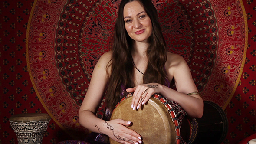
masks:
{"label": "woman's bare arm on the left, shoulder to wrist without the hand", "polygon": [[106,65],[110,58],[111,55],[104,54],[95,65],[88,91],[79,110],[80,124],[93,132],[99,132],[95,125],[104,123],[95,114],[105,93],[107,84]]}

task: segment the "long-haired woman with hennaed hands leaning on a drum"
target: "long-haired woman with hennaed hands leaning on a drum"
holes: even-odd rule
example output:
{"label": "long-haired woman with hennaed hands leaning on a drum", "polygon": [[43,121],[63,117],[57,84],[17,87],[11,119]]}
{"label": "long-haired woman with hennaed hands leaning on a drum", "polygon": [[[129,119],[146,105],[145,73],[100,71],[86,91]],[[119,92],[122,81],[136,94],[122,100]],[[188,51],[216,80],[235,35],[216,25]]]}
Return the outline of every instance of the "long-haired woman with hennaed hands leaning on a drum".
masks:
{"label": "long-haired woman with hennaed hands leaning on a drum", "polygon": [[[112,51],[102,55],[93,71],[79,111],[80,124],[123,144],[142,143],[138,133],[125,127],[131,121],[105,121],[95,116],[105,92],[111,111],[127,93],[134,93],[134,110],[158,93],[177,102],[190,117],[202,117],[203,100],[196,92],[190,69],[181,56],[167,52],[158,14],[150,0],[122,0],[114,33]],[[177,91],[169,88],[172,81]]]}

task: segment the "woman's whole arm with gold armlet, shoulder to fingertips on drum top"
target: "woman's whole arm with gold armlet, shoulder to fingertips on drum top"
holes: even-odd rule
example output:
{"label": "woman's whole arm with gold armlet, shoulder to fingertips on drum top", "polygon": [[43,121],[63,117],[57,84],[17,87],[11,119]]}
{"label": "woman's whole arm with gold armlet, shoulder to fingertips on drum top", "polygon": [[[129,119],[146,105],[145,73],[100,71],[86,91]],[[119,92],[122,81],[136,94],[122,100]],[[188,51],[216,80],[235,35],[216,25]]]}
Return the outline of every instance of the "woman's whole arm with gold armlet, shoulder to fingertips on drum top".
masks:
{"label": "woman's whole arm with gold armlet, shoulder to fingertips on drum top", "polygon": [[199,95],[187,95],[198,90],[185,60],[181,56],[169,53],[166,69],[170,80],[174,78],[177,91],[158,83],[128,88],[127,92],[134,92],[131,105],[135,108],[140,108],[152,94],[159,93],[167,99],[177,102],[191,117],[201,118],[203,115],[202,98]]}

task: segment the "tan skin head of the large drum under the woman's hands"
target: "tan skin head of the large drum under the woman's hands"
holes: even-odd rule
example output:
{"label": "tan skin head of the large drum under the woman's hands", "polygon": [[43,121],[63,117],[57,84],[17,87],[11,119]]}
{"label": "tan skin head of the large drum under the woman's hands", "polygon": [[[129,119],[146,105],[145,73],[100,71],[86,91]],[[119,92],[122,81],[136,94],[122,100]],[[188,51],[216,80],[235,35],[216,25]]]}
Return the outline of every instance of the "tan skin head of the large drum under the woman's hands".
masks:
{"label": "tan skin head of the large drum under the woman's hands", "polygon": [[[144,144],[176,144],[175,125],[164,104],[157,98],[149,101],[138,110],[131,108],[132,97],[128,97],[115,108],[112,119],[131,121],[128,128],[141,135]],[[110,138],[110,144],[120,144]]]}

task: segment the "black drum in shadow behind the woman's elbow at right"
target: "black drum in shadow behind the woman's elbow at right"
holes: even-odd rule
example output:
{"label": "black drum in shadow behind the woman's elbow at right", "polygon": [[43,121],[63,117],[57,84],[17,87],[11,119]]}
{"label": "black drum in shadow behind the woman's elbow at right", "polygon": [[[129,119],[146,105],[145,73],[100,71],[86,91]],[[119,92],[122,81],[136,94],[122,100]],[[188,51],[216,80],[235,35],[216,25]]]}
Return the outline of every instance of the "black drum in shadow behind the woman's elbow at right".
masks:
{"label": "black drum in shadow behind the woman's elbow at right", "polygon": [[203,101],[202,118],[184,117],[181,136],[186,143],[220,144],[228,131],[228,120],[223,109],[210,101]]}

